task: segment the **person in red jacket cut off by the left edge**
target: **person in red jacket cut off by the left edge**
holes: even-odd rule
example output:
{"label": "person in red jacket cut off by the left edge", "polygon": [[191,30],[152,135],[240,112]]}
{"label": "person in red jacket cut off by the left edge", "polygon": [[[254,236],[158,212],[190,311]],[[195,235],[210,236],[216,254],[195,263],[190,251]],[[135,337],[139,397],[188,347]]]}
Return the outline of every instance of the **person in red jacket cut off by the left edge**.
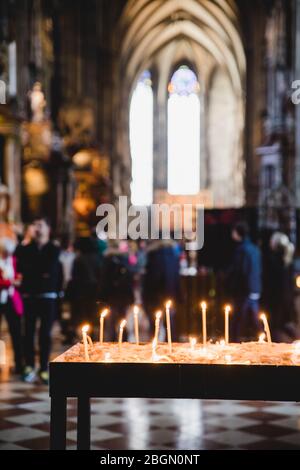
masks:
{"label": "person in red jacket cut off by the left edge", "polygon": [[23,303],[18,286],[21,277],[17,272],[16,258],[13,256],[15,242],[10,238],[0,238],[0,317],[5,316],[15,359],[15,372],[22,374],[22,335],[21,316]]}

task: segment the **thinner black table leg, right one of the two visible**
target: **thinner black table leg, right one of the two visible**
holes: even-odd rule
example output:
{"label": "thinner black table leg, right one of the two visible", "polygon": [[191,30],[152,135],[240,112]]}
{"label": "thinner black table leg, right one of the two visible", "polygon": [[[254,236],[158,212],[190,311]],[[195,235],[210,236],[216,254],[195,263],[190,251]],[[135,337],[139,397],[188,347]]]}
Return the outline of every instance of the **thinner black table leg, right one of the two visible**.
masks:
{"label": "thinner black table leg, right one of the two visible", "polygon": [[91,407],[89,397],[77,400],[77,449],[89,450],[91,445]]}

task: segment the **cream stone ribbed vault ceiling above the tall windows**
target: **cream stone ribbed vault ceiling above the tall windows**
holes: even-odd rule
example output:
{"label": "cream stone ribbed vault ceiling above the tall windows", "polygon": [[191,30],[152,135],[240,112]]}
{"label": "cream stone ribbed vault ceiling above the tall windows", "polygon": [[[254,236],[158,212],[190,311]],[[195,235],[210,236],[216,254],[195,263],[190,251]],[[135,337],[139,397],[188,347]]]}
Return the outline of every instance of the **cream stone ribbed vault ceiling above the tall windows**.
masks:
{"label": "cream stone ribbed vault ceiling above the tall windows", "polygon": [[122,18],[122,67],[133,82],[164,47],[188,40],[227,68],[240,93],[245,54],[238,25],[231,0],[129,0]]}

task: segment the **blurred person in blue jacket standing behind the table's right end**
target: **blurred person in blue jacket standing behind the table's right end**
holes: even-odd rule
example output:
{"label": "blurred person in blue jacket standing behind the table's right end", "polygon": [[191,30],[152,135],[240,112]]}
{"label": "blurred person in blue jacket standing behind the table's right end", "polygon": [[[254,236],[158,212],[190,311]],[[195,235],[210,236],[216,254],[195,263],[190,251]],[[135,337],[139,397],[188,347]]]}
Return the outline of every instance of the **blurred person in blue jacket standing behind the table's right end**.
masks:
{"label": "blurred person in blue jacket standing behind the table's right end", "polygon": [[236,249],[228,272],[234,302],[231,328],[232,340],[239,342],[250,323],[255,335],[262,329],[259,320],[262,265],[260,250],[251,242],[246,222],[239,222],[233,227],[232,239]]}

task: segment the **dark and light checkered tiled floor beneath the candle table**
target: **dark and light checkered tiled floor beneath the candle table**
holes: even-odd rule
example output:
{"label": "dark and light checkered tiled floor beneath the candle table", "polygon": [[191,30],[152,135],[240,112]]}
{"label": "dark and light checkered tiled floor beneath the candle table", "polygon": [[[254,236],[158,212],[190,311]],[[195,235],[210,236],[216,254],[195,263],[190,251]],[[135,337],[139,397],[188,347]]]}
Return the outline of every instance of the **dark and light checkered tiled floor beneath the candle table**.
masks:
{"label": "dark and light checkered tiled floor beneath the candle table", "polygon": [[[0,380],[0,450],[48,449],[47,387],[3,370]],[[67,438],[68,448],[76,448],[76,400],[68,401]],[[300,450],[300,404],[97,399],[92,448]]]}

